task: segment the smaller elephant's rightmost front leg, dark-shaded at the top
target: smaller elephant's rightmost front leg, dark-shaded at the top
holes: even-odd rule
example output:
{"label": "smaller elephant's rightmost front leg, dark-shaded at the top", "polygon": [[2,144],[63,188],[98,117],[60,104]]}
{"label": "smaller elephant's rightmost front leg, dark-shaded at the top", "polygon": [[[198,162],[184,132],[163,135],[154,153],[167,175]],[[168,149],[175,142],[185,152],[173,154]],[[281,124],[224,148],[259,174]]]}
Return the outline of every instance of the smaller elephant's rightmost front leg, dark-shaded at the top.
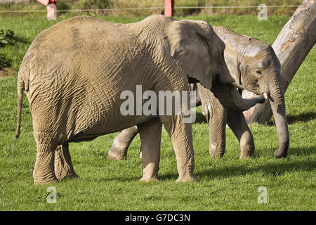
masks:
{"label": "smaller elephant's rightmost front leg, dark-shaded at the top", "polygon": [[234,132],[240,144],[240,159],[254,156],[254,138],[243,113],[228,111],[228,126]]}

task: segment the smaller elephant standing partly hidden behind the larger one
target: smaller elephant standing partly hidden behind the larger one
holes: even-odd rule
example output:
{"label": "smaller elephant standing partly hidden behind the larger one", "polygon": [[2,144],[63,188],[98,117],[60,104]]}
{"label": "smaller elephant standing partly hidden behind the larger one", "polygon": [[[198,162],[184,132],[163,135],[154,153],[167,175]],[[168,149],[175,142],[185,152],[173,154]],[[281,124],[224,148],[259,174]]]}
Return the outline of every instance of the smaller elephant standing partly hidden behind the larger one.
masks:
{"label": "smaller elephant standing partly hidden behind the larger one", "polygon": [[[225,63],[235,82],[240,85],[239,91],[241,89],[252,91],[263,95],[270,102],[279,137],[279,148],[275,150],[275,157],[286,157],[289,148],[289,129],[281,85],[280,63],[272,46],[226,27],[213,27],[213,30],[225,43]],[[243,113],[225,108],[213,89],[212,92],[199,83],[190,84],[190,89],[198,90],[197,105],[202,103],[202,113],[209,124],[211,157],[220,158],[224,155],[225,129],[228,124],[239,141],[240,159],[252,158],[255,149],[254,138]],[[137,127],[121,131],[114,139],[108,157],[111,160],[126,158],[129,145],[136,134],[138,134]]]}

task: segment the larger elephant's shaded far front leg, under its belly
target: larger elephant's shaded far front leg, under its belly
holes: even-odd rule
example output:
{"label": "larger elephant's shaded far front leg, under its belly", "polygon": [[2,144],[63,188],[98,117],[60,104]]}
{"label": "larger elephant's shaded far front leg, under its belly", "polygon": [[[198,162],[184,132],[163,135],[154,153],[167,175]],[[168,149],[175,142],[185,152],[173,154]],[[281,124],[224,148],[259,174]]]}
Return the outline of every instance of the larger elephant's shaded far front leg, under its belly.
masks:
{"label": "larger elephant's shaded far front leg, under its belly", "polygon": [[143,177],[141,181],[158,181],[162,122],[159,117],[138,125],[142,144]]}

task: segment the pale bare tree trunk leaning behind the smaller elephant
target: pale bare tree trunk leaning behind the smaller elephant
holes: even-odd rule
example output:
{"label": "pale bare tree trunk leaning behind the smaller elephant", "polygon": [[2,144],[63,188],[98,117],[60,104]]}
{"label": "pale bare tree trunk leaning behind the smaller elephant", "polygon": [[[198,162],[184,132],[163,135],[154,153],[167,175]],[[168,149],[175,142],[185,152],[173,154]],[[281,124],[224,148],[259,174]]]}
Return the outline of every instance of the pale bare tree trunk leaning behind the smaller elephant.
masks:
{"label": "pale bare tree trunk leaning behind the smaller elephant", "polygon": [[[316,1],[305,0],[296,9],[283,27],[272,48],[281,63],[282,89],[285,93],[296,71],[316,42]],[[243,91],[243,98],[254,98],[256,94]],[[265,123],[272,117],[268,101],[257,104],[244,112],[248,124]]]}

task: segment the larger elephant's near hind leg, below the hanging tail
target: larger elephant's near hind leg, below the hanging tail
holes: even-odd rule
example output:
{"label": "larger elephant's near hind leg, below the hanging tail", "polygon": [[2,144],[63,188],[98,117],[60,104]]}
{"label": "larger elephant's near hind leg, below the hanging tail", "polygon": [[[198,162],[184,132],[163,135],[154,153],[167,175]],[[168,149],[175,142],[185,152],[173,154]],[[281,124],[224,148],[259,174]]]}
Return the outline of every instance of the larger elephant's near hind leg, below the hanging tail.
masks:
{"label": "larger elephant's near hind leg, below the hanging tail", "polygon": [[53,184],[58,181],[54,171],[57,143],[46,137],[46,133],[36,133],[37,159],[33,171],[34,184]]}

